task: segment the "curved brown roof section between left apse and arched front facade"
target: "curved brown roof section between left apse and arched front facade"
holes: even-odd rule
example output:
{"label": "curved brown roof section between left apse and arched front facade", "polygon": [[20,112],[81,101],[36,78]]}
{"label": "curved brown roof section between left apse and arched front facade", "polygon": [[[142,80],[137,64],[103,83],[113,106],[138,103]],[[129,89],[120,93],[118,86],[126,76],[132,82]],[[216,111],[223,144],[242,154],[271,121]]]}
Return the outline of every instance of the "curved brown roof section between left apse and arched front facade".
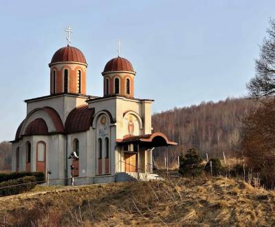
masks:
{"label": "curved brown roof section between left apse and arched front facade", "polygon": [[91,127],[94,118],[94,108],[88,105],[81,105],[74,108],[67,116],[65,122],[65,133],[77,133],[87,131]]}

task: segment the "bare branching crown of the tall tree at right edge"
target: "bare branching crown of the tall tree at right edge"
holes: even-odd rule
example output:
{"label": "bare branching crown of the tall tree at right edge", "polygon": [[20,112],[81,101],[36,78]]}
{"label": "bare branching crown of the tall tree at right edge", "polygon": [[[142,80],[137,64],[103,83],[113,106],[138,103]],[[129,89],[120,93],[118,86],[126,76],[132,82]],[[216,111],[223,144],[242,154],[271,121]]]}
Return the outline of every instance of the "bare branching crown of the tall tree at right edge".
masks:
{"label": "bare branching crown of the tall tree at right edge", "polygon": [[261,45],[260,57],[256,60],[256,76],[247,87],[251,98],[274,96],[275,94],[275,21],[270,20],[267,37]]}

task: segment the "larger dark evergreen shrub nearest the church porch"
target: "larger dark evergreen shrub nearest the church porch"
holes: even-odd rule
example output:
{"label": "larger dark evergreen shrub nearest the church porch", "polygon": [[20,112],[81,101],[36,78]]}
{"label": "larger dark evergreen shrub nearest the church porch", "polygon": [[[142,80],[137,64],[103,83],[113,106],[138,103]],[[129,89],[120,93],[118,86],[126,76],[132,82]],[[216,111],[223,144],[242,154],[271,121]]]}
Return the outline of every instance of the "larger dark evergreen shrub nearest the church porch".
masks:
{"label": "larger dark evergreen shrub nearest the church porch", "polygon": [[179,156],[179,173],[184,176],[196,177],[203,171],[202,159],[197,149],[188,149],[185,156]]}

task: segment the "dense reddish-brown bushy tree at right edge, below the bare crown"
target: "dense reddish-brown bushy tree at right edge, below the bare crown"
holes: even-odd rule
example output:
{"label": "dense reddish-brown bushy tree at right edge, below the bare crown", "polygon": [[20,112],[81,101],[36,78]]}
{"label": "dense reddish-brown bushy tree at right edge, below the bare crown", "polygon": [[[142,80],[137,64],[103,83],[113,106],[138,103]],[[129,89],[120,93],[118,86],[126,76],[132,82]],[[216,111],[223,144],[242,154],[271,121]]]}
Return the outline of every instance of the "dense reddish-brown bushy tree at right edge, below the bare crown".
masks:
{"label": "dense reddish-brown bushy tree at right edge, below the bare crown", "polygon": [[262,103],[243,120],[241,147],[248,169],[259,173],[261,183],[275,188],[275,100]]}

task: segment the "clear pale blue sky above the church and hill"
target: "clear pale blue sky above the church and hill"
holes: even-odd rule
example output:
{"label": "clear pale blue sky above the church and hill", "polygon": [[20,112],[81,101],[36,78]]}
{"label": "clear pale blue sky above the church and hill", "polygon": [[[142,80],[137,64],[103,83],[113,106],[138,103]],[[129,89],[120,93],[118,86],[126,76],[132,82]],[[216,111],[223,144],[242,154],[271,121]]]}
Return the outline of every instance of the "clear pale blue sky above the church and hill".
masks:
{"label": "clear pale blue sky above the church and hill", "polygon": [[66,45],[86,56],[87,93],[102,96],[104,65],[117,55],[135,71],[135,97],[153,112],[242,97],[275,1],[0,0],[0,141],[25,118],[23,100],[50,94],[47,66]]}

